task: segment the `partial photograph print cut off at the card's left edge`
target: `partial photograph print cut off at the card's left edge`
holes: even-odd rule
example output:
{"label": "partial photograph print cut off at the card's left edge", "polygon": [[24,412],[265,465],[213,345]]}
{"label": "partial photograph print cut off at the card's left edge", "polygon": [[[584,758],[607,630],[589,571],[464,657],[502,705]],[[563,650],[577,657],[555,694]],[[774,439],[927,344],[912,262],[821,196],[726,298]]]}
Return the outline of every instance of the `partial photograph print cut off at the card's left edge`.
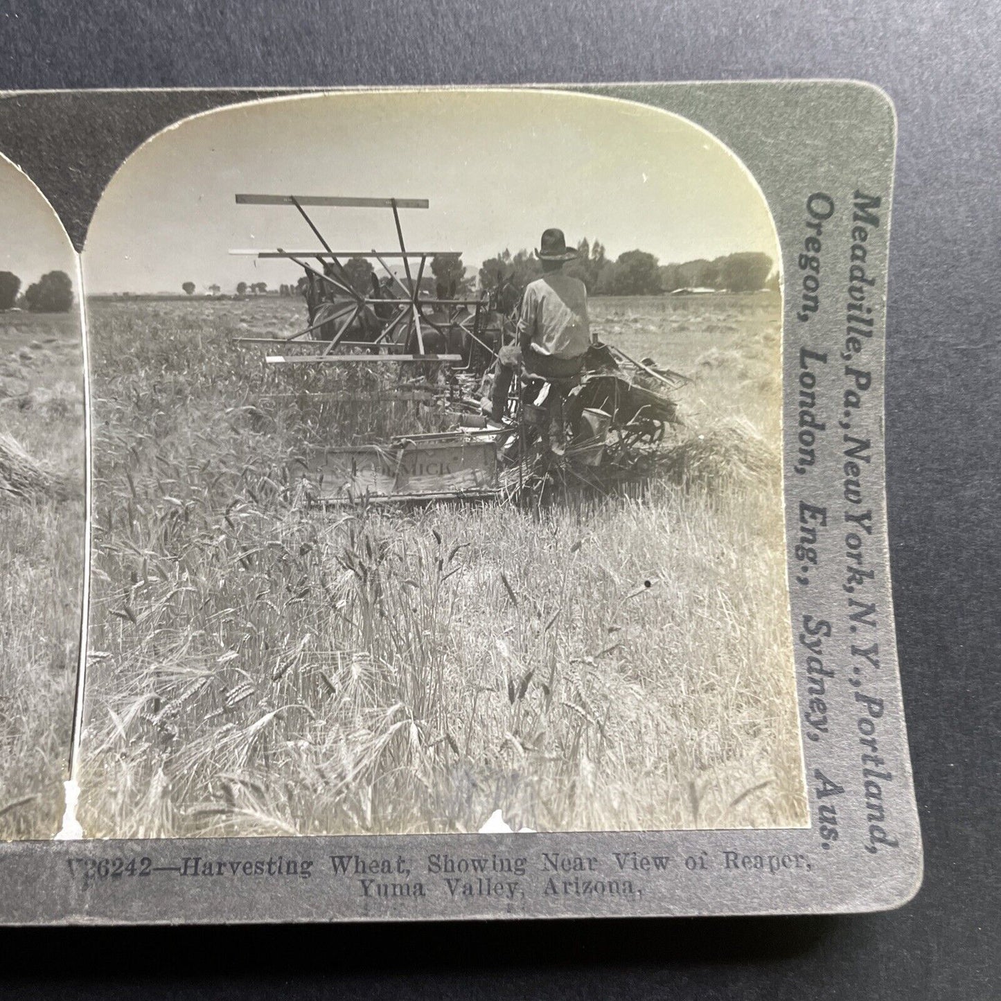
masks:
{"label": "partial photograph print cut off at the card's left edge", "polygon": [[77,256],[0,157],[0,841],[63,814],[83,615],[84,368]]}

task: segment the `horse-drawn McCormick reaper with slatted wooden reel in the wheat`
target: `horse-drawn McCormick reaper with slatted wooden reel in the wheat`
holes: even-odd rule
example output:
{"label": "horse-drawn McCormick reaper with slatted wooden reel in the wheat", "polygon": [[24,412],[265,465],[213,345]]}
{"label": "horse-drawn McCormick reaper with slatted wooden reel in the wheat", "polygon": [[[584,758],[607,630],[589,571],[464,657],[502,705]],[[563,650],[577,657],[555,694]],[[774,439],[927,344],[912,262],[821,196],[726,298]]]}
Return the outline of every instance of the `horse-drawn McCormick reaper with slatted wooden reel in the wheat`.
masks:
{"label": "horse-drawn McCormick reaper with slatted wooden reel in the wheat", "polygon": [[[648,476],[669,427],[681,422],[675,394],[688,379],[614,345],[591,346],[572,378],[524,365],[506,371],[500,356],[516,338],[520,290],[500,282],[475,297],[440,286],[429,294],[428,261],[458,254],[407,249],[400,209],[427,208],[424,199],[238,194],[236,201],[294,207],[320,244],[233,251],[301,267],[308,311],[303,329],[237,342],[279,347],[266,354],[268,365],[371,366],[389,392],[407,384],[392,369],[435,370],[435,378],[421,379],[429,392],[423,400],[444,429],[401,432],[378,444],[312,445],[300,479],[313,502],[519,497],[573,482],[612,490]],[[398,248],[334,250],[306,206],[389,209]],[[381,279],[372,269],[369,287],[359,290],[344,266],[352,258],[374,261]]]}

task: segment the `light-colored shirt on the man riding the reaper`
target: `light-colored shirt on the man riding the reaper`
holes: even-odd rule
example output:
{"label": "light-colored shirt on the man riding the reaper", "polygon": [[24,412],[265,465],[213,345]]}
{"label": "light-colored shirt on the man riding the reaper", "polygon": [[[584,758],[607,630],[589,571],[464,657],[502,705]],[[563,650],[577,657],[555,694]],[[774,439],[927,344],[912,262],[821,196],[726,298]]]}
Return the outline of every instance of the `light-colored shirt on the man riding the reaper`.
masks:
{"label": "light-colored shirt on the man riding the reaper", "polygon": [[518,342],[540,354],[577,358],[591,346],[588,289],[580,278],[550,271],[525,289]]}

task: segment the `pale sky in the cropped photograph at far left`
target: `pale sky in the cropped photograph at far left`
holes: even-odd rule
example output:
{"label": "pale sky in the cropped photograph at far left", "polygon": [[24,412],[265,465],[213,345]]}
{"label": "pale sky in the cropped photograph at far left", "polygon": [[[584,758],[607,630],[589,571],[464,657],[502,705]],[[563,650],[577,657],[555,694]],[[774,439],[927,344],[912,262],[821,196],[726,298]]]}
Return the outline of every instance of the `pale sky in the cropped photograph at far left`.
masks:
{"label": "pale sky in the cropped photograph at far left", "polygon": [[0,157],[0,271],[13,271],[21,291],[46,271],[65,271],[76,285],[73,246],[44,196]]}

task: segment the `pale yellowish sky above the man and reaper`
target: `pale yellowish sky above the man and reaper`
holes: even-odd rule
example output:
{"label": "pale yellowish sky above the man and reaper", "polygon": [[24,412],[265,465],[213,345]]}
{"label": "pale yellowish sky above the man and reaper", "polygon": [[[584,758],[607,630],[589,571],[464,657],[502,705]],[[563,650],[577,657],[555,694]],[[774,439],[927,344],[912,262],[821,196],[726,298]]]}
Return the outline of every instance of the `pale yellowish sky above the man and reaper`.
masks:
{"label": "pale yellowish sky above the man and reaper", "polygon": [[[624,101],[526,91],[326,94],[188,119],[112,179],[84,250],[92,292],[179,292],[237,281],[276,287],[301,273],[234,247],[309,248],[291,206],[236,205],[236,192],[428,198],[401,210],[412,249],[459,250],[465,265],[538,246],[559,226],[610,257],[662,264],[777,247],[745,168],[682,118]],[[384,209],[307,209],[336,249],[392,249]]]}

